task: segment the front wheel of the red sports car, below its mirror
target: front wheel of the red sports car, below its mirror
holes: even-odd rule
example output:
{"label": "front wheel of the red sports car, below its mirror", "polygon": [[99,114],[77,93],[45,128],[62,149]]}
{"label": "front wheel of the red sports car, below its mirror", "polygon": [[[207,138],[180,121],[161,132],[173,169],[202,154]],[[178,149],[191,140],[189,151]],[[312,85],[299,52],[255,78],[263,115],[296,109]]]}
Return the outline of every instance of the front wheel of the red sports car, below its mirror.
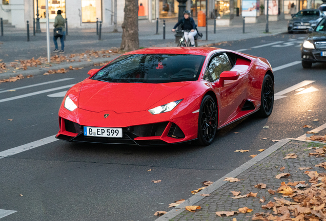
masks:
{"label": "front wheel of the red sports car, below its mirror", "polygon": [[206,95],[200,104],[198,117],[197,144],[208,146],[213,142],[217,131],[217,107],[214,99]]}

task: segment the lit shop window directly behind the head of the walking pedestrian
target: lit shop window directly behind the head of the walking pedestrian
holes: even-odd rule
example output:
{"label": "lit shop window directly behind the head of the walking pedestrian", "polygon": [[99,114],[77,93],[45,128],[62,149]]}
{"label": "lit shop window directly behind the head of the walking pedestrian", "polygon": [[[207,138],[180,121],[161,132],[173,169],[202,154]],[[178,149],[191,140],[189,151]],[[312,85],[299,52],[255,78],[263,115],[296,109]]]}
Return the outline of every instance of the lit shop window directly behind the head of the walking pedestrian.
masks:
{"label": "lit shop window directly behind the head of the walking pedestrian", "polygon": [[[46,2],[45,0],[34,0],[34,16],[35,18],[37,10],[36,10],[36,1],[38,1],[38,14],[39,21],[45,23],[46,22]],[[49,3],[49,20],[50,22],[54,22],[54,18],[57,15],[57,11],[61,10],[61,14],[64,18],[66,18],[66,0],[51,0]]]}

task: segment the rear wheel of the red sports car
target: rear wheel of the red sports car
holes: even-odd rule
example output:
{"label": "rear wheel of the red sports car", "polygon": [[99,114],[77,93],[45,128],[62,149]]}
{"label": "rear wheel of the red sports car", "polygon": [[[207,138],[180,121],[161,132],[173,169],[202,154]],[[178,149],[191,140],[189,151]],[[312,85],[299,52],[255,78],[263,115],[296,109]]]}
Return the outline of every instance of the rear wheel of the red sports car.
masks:
{"label": "rear wheel of the red sports car", "polygon": [[274,106],[274,83],[271,75],[266,74],[261,86],[259,116],[267,118],[272,114]]}

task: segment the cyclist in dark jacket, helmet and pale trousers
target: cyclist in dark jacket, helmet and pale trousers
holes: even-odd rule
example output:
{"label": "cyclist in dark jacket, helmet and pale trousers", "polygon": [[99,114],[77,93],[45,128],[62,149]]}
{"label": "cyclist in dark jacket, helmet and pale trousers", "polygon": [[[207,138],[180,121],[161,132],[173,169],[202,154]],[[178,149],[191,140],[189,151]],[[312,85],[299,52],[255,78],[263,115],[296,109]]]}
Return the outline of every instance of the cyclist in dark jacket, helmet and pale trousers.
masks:
{"label": "cyclist in dark jacket, helmet and pale trousers", "polygon": [[[195,20],[190,17],[190,11],[184,11],[184,18],[180,19],[178,23],[173,27],[172,31],[174,32],[176,27],[181,25],[181,30],[185,33],[185,40],[188,42],[190,40],[191,47],[195,47],[195,36],[197,34]],[[189,30],[191,30],[189,32]]]}

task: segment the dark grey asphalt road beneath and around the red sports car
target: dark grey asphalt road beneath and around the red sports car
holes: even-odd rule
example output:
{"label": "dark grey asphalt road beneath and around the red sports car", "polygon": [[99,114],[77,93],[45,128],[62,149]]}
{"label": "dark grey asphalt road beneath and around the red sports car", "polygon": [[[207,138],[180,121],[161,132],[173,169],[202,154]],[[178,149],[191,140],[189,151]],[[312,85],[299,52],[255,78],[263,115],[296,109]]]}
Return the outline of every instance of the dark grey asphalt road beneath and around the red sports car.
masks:
{"label": "dark grey asphalt road beneath and around the red sports car", "polygon": [[[280,93],[286,97],[275,100],[268,119],[251,116],[219,130],[210,146],[130,147],[57,140],[0,158],[0,214],[17,211],[1,221],[154,220],[155,211],[169,211],[170,203],[189,198],[201,182],[216,181],[247,162],[258,149],[272,146],[273,139],[297,138],[326,123],[326,64],[304,70],[293,63],[300,61],[299,44],[305,36],[280,34],[218,46],[267,58],[276,70],[275,93],[313,82],[296,88],[301,92]],[[56,93],[88,77],[89,69],[0,84],[0,152],[55,135],[63,99]],[[44,92],[49,89],[53,91]],[[4,100],[20,95],[31,96]],[[305,124],[312,128],[302,128]]]}

